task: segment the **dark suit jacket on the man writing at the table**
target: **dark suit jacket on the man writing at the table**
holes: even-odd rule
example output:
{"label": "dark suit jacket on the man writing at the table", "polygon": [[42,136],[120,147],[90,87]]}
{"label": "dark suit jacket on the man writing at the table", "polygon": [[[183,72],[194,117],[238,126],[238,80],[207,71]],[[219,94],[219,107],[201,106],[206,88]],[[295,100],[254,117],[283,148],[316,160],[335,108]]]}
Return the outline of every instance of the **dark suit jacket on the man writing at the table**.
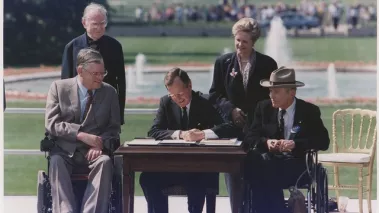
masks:
{"label": "dark suit jacket on the man writing at the table", "polygon": [[[181,114],[181,108],[171,97],[163,96],[148,136],[157,140],[171,139],[171,135],[181,128]],[[233,124],[225,123],[212,104],[199,92],[192,91],[188,120],[188,129],[211,129],[219,138],[232,138],[239,134],[239,130]]]}

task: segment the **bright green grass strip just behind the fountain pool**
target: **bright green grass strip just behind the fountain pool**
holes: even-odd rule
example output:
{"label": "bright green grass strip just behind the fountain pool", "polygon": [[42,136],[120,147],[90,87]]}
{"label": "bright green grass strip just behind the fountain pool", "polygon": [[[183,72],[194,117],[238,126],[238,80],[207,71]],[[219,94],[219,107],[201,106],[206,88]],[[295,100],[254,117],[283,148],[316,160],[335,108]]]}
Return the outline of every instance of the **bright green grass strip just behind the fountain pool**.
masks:
{"label": "bright green grass strip just behind the fountain pool", "polygon": [[[233,38],[221,37],[118,37],[125,63],[134,63],[138,53],[149,64],[197,61],[214,63],[225,47],[233,50]],[[264,52],[265,38],[256,49]],[[376,61],[376,38],[290,38],[294,61]]]}

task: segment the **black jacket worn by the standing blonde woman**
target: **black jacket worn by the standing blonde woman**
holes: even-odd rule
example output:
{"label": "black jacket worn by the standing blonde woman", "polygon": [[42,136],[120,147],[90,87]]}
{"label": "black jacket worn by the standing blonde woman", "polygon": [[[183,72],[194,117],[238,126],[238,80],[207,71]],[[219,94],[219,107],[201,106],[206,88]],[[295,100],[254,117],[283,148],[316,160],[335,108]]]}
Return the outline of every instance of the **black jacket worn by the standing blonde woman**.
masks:
{"label": "black jacket worn by the standing blonde woman", "polygon": [[[211,102],[226,119],[231,120],[232,110],[238,107],[247,114],[248,126],[252,122],[257,102],[269,98],[269,90],[260,85],[260,80],[270,78],[271,72],[276,70],[278,65],[271,57],[256,52],[253,67],[245,92],[237,54],[234,52],[222,55],[215,62],[213,83],[209,89]],[[238,73],[235,77],[230,75],[233,69]]]}

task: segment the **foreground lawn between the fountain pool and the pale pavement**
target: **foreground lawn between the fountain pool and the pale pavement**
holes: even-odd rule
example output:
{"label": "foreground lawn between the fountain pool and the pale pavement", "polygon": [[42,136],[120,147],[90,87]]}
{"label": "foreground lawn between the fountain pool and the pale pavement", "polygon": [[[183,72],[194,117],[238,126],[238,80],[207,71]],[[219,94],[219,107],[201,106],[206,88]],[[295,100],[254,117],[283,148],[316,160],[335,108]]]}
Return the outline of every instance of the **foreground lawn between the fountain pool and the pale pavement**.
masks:
{"label": "foreground lawn between the fountain pool and the pale pavement", "polygon": [[[43,107],[43,103],[10,103],[8,107]],[[331,116],[338,108],[349,108],[354,106],[323,106],[321,107],[322,119],[325,126],[331,133]],[[376,106],[367,106],[365,108],[376,109]],[[149,129],[153,115],[126,115],[126,124],[122,127],[121,140],[126,141],[136,136],[146,135]],[[5,114],[4,115],[4,148],[5,149],[38,149],[39,141],[43,137],[42,114]],[[22,130],[22,134],[20,134]],[[35,195],[36,178],[39,169],[46,170],[46,160],[43,156],[5,156],[4,186],[5,195]],[[376,180],[375,164],[374,180]],[[357,180],[356,169],[343,169],[343,182],[354,182]],[[141,188],[138,184],[136,175],[136,194],[142,195]],[[332,178],[329,178],[332,182]],[[333,195],[334,192],[331,192]],[[225,196],[226,189],[223,175],[220,176],[220,194]],[[353,191],[343,191],[343,194],[349,197],[357,197]],[[376,181],[373,184],[373,196],[376,198]]]}

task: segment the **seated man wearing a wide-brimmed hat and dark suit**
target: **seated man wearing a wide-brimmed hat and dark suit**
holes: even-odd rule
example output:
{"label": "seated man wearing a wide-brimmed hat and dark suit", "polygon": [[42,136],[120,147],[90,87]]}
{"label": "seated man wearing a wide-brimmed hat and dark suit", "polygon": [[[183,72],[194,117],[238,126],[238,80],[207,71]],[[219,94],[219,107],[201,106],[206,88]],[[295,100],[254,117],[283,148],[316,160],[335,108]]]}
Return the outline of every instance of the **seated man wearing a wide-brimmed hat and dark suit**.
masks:
{"label": "seated man wearing a wide-brimmed hat and dark suit", "polygon": [[304,83],[296,81],[294,69],[280,67],[260,84],[269,88],[270,99],[257,104],[244,139],[249,150],[246,179],[257,213],[287,213],[283,189],[294,186],[306,170],[306,150],[328,149],[329,135],[320,109],[296,98]]}

